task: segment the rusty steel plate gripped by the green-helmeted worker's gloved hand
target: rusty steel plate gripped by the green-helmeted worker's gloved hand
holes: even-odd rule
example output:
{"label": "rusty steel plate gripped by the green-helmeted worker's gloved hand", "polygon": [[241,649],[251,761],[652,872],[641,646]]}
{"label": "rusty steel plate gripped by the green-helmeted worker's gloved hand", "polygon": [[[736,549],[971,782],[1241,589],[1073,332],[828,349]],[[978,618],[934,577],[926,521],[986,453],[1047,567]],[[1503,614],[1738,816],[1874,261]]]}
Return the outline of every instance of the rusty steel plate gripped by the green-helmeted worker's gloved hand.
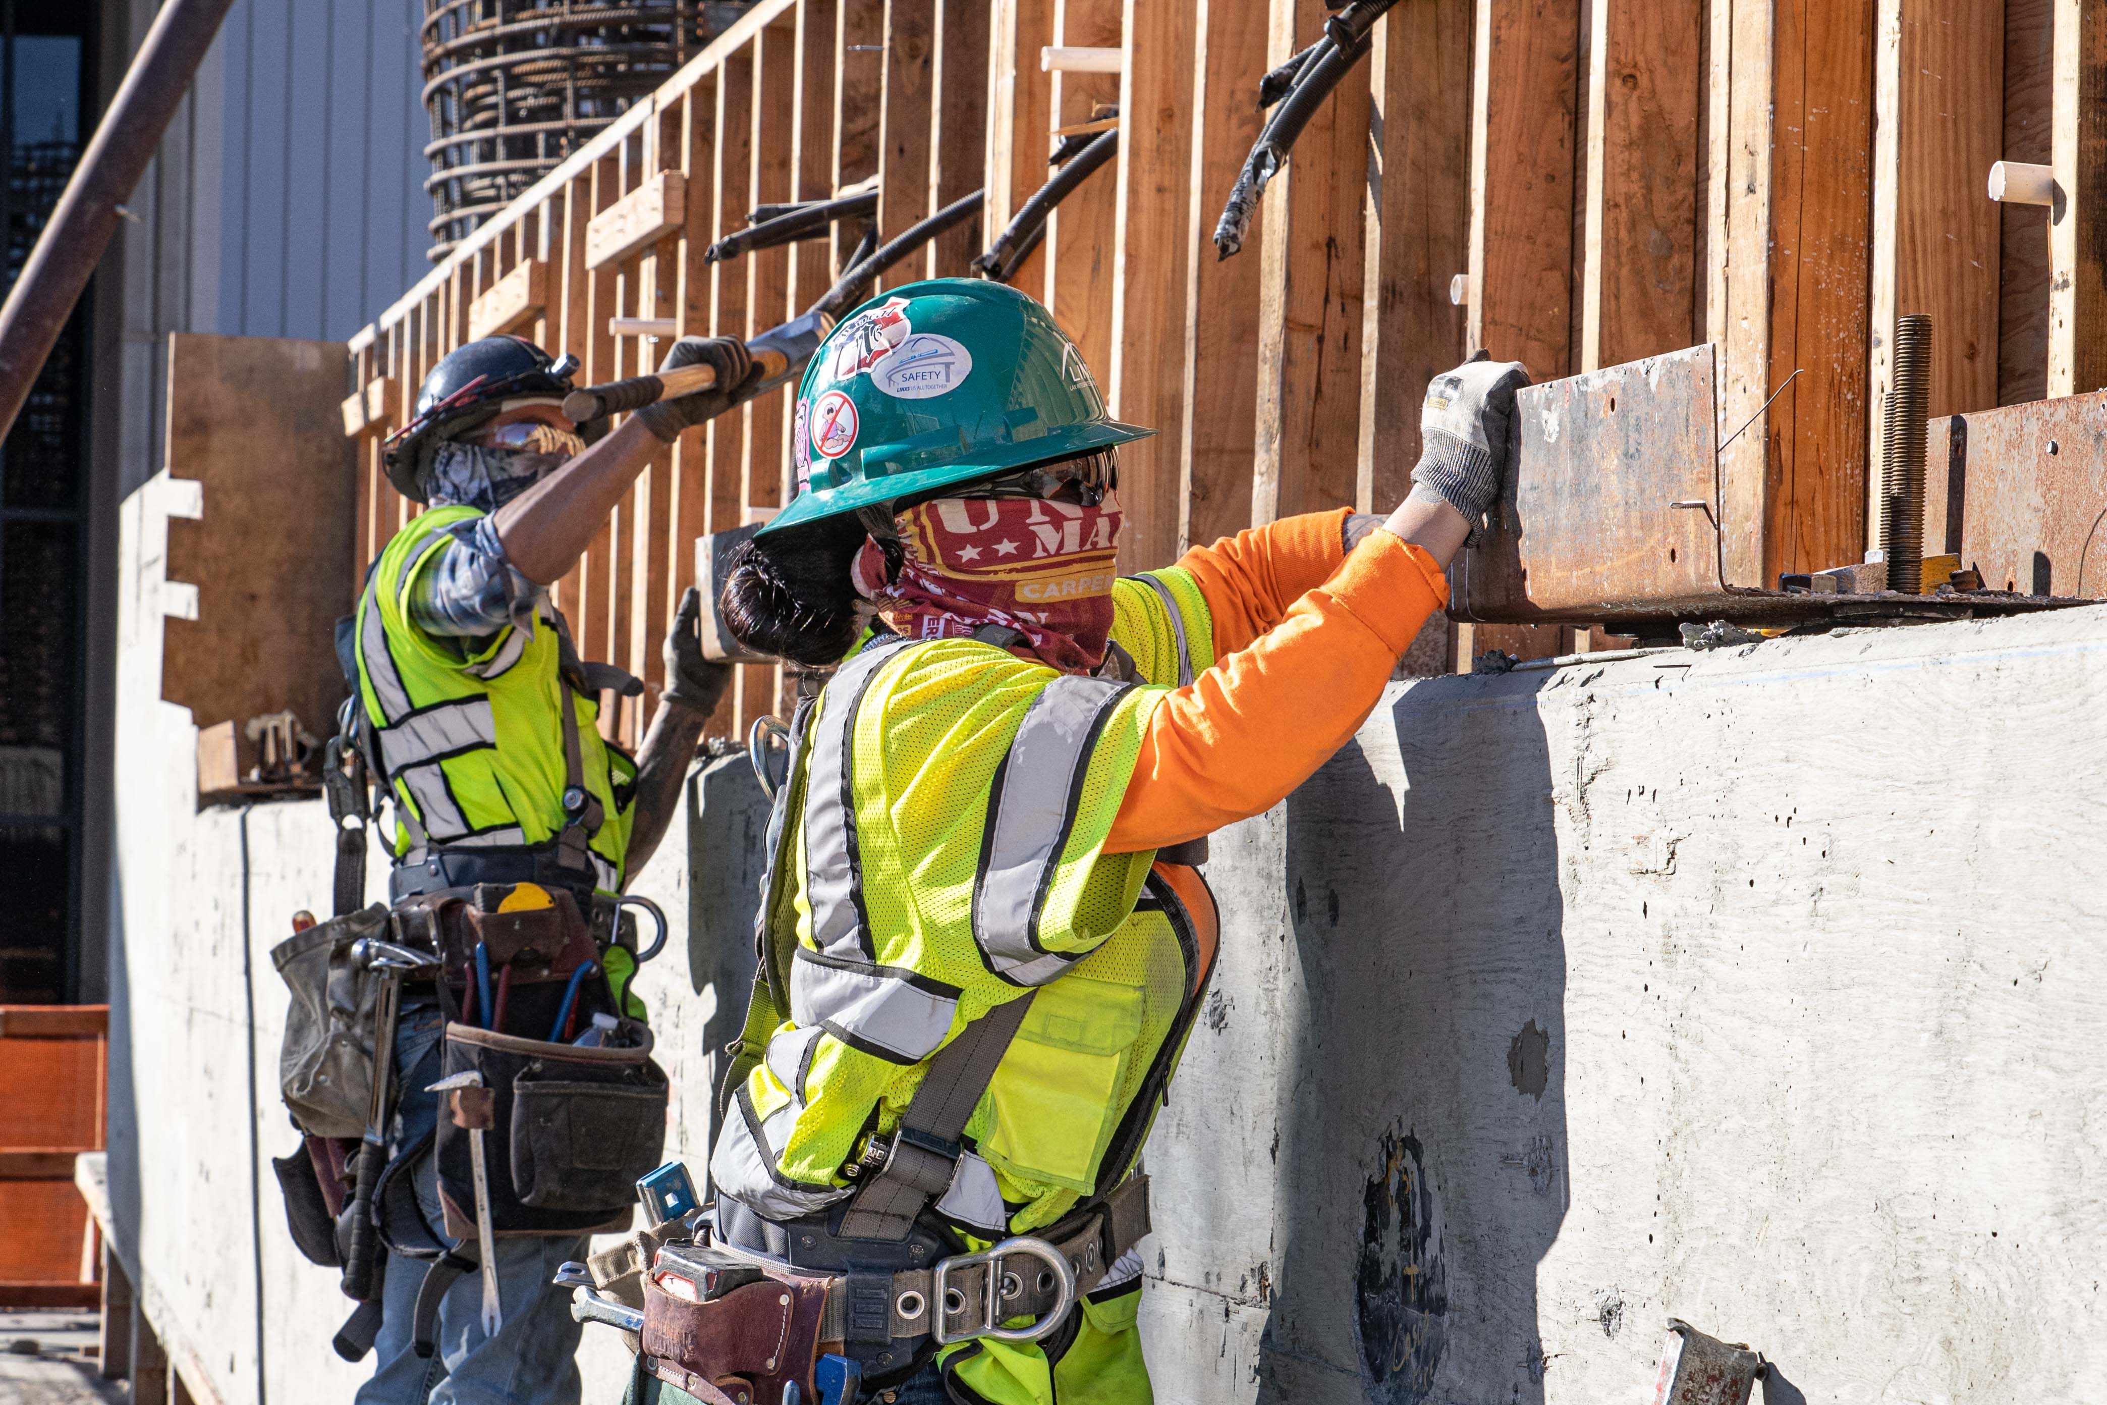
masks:
{"label": "rusty steel plate gripped by the green-helmeted worker's gloved hand", "polygon": [[1456,619],[1658,617],[1719,609],[1713,348],[1519,396],[1513,499],[1450,567]]}

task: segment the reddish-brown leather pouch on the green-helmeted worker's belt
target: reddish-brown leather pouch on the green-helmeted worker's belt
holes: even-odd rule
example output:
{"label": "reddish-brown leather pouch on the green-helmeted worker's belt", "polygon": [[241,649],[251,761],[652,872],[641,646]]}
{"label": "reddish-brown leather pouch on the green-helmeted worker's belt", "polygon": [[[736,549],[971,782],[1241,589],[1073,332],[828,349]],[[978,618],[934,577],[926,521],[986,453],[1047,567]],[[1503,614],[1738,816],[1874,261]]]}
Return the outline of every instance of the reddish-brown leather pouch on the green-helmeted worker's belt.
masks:
{"label": "reddish-brown leather pouch on the green-helmeted worker's belt", "polygon": [[828,1323],[830,1277],[805,1277],[765,1266],[759,1283],[714,1302],[685,1302],[645,1274],[645,1331],[638,1365],[697,1401],[782,1405],[792,1382],[811,1386],[822,1350],[841,1350],[841,1327]]}

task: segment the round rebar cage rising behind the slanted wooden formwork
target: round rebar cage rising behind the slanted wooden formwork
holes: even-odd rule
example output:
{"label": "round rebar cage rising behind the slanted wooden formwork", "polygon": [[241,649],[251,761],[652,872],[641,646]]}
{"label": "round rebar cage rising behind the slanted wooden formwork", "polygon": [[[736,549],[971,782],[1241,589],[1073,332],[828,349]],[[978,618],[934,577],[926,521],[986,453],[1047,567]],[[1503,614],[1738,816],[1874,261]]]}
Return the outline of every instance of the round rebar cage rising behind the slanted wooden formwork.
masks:
{"label": "round rebar cage rising behind the slanted wooden formwork", "polygon": [[447,257],[748,8],[718,0],[426,0],[430,259]]}

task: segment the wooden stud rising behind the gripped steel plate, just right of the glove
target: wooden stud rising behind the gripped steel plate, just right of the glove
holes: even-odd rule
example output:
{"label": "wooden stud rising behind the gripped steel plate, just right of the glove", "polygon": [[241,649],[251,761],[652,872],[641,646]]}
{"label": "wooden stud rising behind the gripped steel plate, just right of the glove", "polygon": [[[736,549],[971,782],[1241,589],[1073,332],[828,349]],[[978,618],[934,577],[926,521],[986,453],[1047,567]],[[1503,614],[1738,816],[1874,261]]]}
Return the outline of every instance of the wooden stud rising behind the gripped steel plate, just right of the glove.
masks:
{"label": "wooden stud rising behind the gripped steel plate, just right of the glove", "polygon": [[1580,371],[1690,345],[1698,8],[1593,0]]}

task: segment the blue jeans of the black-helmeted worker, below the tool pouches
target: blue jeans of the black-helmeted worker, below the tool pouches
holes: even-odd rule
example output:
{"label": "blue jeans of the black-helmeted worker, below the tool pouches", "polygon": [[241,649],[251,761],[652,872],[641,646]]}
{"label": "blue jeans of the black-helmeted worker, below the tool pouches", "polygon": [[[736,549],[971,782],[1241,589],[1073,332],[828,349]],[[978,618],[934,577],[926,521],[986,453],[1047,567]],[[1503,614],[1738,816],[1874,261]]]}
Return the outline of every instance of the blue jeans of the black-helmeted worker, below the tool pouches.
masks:
{"label": "blue jeans of the black-helmeted worker, below the tool pouches", "polygon": [[[438,1121],[440,1013],[432,1005],[402,1011],[396,1030],[400,1100],[396,1146],[409,1146]],[[426,1152],[411,1171],[417,1209],[428,1232],[440,1226],[438,1167]],[[394,1230],[402,1243],[419,1243],[415,1226]],[[381,1295],[381,1331],[373,1342],[373,1380],[358,1388],[358,1405],[577,1405],[577,1340],[571,1293],[552,1283],[565,1260],[586,1258],[584,1239],[499,1239],[497,1300],[504,1323],[497,1335],[483,1333],[483,1274],[464,1274],[438,1306],[438,1354],[430,1361],[411,1348],[417,1287],[426,1264],[388,1255]],[[942,1399],[942,1397],[938,1397]]]}

